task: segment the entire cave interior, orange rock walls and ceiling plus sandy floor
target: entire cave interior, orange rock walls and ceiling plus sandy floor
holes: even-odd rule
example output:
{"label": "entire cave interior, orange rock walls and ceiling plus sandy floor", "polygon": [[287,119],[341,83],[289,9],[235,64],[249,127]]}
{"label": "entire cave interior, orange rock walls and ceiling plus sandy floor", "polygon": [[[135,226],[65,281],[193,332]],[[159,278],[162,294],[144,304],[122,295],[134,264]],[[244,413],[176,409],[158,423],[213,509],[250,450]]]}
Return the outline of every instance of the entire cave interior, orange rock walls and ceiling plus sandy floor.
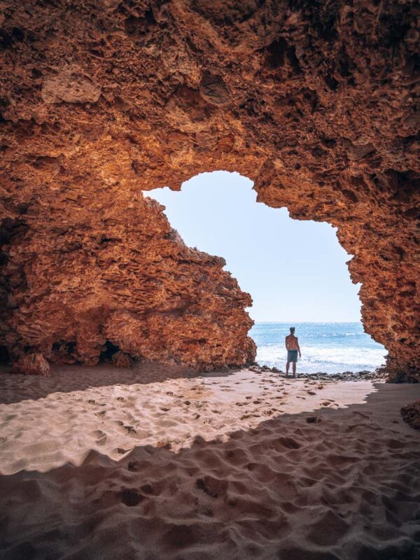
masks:
{"label": "entire cave interior, orange rock walls and ceiling plus sandy floor", "polygon": [[[1,1],[2,557],[419,559],[419,37],[404,0]],[[148,197],[216,170],[337,228],[413,384],[255,365]]]}

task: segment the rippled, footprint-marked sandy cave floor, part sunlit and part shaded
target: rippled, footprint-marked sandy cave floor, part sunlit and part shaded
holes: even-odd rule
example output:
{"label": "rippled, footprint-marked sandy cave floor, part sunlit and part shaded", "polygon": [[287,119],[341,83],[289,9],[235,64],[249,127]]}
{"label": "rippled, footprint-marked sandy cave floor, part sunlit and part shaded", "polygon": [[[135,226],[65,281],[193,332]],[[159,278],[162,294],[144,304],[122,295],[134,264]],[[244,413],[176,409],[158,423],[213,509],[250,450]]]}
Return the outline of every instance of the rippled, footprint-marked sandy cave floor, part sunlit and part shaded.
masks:
{"label": "rippled, footprint-marked sandy cave floor, part sunlit and part shaded", "polygon": [[3,559],[420,559],[420,385],[0,373]]}

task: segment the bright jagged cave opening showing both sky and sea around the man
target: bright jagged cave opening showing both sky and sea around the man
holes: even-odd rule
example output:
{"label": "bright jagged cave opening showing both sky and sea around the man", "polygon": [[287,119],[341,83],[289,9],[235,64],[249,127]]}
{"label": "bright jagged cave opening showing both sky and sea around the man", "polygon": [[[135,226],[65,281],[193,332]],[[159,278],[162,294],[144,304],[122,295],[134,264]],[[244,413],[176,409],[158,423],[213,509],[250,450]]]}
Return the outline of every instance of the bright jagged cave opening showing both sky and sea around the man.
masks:
{"label": "bright jagged cave opening showing both sky and sea around the man", "polygon": [[181,191],[144,194],[165,206],[188,246],[223,257],[224,269],[251,294],[249,334],[258,363],[284,366],[284,337],[294,325],[303,342],[303,372],[373,371],[384,364],[386,349],[360,319],[360,284],[347,267],[352,257],[332,225],[255,204],[252,181],[237,173],[204,173]]}

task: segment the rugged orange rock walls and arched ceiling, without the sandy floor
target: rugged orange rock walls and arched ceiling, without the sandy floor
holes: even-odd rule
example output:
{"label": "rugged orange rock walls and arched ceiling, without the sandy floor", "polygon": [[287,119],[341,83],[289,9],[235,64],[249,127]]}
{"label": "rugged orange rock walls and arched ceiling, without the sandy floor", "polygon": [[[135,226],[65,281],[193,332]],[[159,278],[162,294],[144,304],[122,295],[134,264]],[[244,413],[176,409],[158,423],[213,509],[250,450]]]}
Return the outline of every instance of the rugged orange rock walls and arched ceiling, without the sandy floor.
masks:
{"label": "rugged orange rock walls and arched ceiling, without the sandy floor", "polygon": [[0,10],[10,356],[97,363],[108,341],[198,367],[251,359],[250,298],[141,194],[226,169],[253,179],[261,202],[339,228],[367,332],[389,350],[394,378],[420,377],[414,3],[6,0]]}

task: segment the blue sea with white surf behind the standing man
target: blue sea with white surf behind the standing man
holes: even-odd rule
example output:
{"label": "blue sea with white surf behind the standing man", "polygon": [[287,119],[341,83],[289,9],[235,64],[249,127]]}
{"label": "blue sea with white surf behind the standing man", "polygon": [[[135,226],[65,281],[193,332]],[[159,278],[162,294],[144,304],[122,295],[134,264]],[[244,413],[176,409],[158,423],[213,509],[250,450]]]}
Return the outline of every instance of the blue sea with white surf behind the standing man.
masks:
{"label": "blue sea with white surf behind the standing man", "polygon": [[361,323],[255,323],[249,334],[258,346],[260,365],[285,370],[284,339],[290,326],[296,328],[302,351],[297,372],[373,371],[385,363],[386,349],[363,331]]}

